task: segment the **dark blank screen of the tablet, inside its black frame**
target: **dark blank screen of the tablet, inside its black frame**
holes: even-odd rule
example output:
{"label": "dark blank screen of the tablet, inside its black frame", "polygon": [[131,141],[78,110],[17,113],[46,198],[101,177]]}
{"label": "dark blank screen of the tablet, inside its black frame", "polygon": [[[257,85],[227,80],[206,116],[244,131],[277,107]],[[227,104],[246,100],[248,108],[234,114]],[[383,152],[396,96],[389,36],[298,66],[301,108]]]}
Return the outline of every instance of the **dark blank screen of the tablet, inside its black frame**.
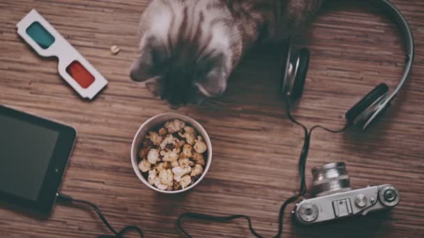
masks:
{"label": "dark blank screen of the tablet, inside its black frame", "polygon": [[0,114],[0,191],[38,200],[59,132]]}

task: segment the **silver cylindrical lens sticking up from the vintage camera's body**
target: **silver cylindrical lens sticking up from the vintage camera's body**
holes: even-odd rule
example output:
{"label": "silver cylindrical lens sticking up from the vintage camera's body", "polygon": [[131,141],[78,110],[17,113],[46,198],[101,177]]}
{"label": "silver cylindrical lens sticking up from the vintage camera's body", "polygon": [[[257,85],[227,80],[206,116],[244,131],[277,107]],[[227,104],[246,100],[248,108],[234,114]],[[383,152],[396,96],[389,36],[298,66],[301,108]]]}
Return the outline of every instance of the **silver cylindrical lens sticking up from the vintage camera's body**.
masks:
{"label": "silver cylindrical lens sticking up from the vintage camera's body", "polygon": [[312,177],[312,192],[317,197],[351,190],[345,162],[312,168]]}

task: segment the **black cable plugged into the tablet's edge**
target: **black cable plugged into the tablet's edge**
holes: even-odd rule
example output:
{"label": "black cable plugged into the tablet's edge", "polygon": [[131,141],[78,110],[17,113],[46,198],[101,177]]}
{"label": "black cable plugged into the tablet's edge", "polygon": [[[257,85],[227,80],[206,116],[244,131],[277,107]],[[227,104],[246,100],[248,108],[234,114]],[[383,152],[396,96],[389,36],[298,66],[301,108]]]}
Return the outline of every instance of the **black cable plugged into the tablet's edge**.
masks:
{"label": "black cable plugged into the tablet's edge", "polygon": [[103,221],[103,223],[105,223],[107,228],[112,233],[114,233],[114,235],[99,235],[98,237],[105,237],[105,238],[106,237],[119,237],[119,238],[123,238],[123,235],[126,234],[126,232],[134,230],[135,232],[139,233],[140,237],[144,238],[144,234],[143,234],[142,229],[140,229],[138,226],[135,226],[135,225],[127,225],[126,227],[119,230],[119,232],[117,232],[114,228],[112,228],[112,225],[110,225],[110,223],[109,223],[109,221],[107,221],[106,217],[103,216],[103,213],[100,211],[98,206],[96,206],[93,203],[90,203],[90,202],[85,201],[85,200],[77,200],[77,199],[74,199],[71,196],[68,196],[68,195],[63,194],[63,193],[57,193],[57,199],[58,199],[59,202],[62,202],[62,203],[70,203],[70,204],[81,203],[81,204],[89,205],[90,207],[92,207],[94,209],[94,211],[98,214],[100,219]]}

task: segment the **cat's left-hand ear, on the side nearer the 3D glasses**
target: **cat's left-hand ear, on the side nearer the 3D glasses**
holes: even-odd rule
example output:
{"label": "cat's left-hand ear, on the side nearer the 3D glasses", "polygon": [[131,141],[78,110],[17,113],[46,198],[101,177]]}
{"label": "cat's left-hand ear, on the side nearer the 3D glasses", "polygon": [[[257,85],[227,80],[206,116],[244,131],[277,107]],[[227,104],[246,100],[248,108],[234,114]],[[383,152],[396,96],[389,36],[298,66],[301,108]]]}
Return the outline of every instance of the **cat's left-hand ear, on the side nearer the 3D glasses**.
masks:
{"label": "cat's left-hand ear, on the side nearer the 3D glasses", "polygon": [[146,81],[158,77],[166,61],[167,50],[165,47],[157,38],[147,37],[140,44],[139,54],[132,63],[130,77],[134,81]]}

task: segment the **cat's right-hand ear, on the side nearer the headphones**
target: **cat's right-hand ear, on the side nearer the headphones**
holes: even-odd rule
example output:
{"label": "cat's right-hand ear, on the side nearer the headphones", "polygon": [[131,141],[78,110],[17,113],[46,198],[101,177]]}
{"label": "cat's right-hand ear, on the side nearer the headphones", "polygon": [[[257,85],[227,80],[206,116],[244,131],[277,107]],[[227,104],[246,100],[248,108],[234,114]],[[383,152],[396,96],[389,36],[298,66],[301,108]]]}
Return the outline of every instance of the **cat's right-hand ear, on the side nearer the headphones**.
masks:
{"label": "cat's right-hand ear, on the side nearer the headphones", "polygon": [[203,77],[196,82],[197,88],[206,97],[222,95],[227,89],[228,73],[225,66],[225,55],[219,54],[200,63]]}

